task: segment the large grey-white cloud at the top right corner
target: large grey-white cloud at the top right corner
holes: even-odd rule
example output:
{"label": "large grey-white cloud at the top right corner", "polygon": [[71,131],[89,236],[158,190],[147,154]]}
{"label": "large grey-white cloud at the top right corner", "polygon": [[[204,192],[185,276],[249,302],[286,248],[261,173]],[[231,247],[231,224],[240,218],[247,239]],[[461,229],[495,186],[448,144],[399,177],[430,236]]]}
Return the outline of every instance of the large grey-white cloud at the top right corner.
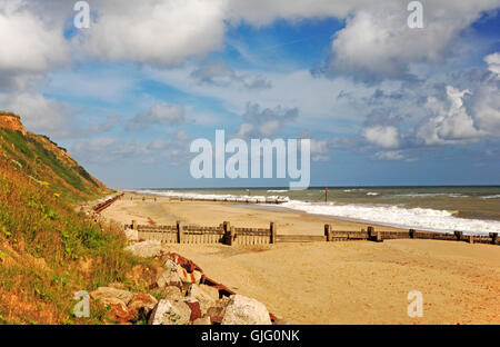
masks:
{"label": "large grey-white cloud at the top right corner", "polygon": [[408,79],[413,62],[439,62],[458,34],[498,1],[428,1],[424,28],[410,29],[407,2],[388,1],[353,11],[331,44],[329,71],[363,81]]}

